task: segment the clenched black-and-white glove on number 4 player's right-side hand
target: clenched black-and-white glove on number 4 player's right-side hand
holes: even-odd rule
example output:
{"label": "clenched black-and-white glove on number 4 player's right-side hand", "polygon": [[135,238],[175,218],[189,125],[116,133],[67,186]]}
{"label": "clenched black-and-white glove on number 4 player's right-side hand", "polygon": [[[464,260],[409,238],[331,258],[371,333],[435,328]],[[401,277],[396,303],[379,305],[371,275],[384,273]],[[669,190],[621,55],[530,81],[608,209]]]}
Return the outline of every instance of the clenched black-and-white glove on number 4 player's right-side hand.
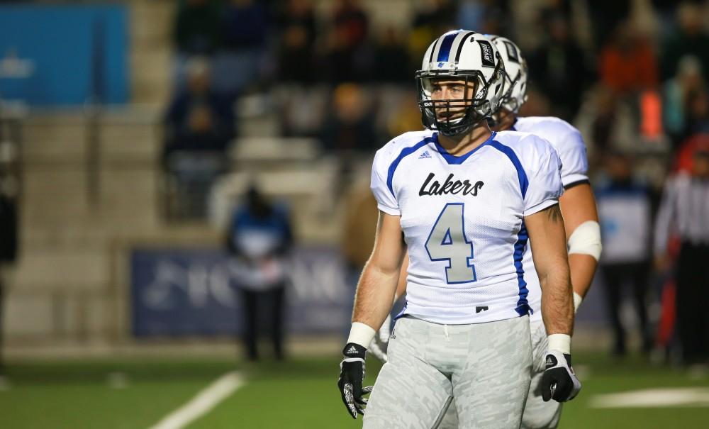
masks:
{"label": "clenched black-and-white glove on number 4 player's right-side hand", "polygon": [[571,401],[581,390],[581,381],[576,378],[571,367],[571,355],[549,350],[546,360],[547,369],[542,375],[542,399],[545,402],[550,399],[557,402]]}

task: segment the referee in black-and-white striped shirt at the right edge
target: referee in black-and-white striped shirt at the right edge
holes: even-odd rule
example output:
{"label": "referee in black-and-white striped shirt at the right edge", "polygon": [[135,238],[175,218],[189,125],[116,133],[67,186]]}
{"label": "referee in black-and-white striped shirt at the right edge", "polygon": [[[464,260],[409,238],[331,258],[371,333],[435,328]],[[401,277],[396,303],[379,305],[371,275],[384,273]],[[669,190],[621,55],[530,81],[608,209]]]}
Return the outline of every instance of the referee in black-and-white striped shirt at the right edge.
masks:
{"label": "referee in black-and-white striped shirt at the right edge", "polygon": [[655,223],[655,264],[669,268],[668,245],[681,243],[676,261],[676,330],[684,364],[709,363],[709,148],[698,146],[690,174],[666,183]]}

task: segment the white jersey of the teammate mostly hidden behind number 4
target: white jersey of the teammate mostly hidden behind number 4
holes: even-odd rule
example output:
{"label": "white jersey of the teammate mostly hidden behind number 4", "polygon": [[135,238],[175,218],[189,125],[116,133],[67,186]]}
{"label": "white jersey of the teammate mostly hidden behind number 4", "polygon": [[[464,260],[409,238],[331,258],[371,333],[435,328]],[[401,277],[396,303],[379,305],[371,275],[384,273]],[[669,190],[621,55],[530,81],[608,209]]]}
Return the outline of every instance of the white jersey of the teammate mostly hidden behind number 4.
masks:
{"label": "white jersey of the teammate mostly hidden behind number 4", "polygon": [[[552,143],[562,160],[562,184],[565,188],[579,182],[588,182],[586,144],[579,130],[570,123],[553,116],[530,116],[517,118],[512,129],[532,133]],[[525,272],[529,273],[526,277],[527,289],[529,289],[527,300],[534,311],[531,320],[539,320],[542,318],[542,287],[537,271],[534,269],[531,246],[527,246],[523,267]]]}

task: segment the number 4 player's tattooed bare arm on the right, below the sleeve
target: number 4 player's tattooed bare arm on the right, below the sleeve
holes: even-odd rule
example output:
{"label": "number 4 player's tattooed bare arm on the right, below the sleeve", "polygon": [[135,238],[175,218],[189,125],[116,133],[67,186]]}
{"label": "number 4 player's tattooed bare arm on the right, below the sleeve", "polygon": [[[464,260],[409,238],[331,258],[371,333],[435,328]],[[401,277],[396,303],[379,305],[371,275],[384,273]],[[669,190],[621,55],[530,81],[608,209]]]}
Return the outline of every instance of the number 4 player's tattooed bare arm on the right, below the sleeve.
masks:
{"label": "number 4 player's tattooed bare arm on the right, below the sleeve", "polygon": [[547,334],[571,335],[574,330],[574,303],[564,219],[559,204],[526,216],[525,225],[542,284],[542,318]]}

